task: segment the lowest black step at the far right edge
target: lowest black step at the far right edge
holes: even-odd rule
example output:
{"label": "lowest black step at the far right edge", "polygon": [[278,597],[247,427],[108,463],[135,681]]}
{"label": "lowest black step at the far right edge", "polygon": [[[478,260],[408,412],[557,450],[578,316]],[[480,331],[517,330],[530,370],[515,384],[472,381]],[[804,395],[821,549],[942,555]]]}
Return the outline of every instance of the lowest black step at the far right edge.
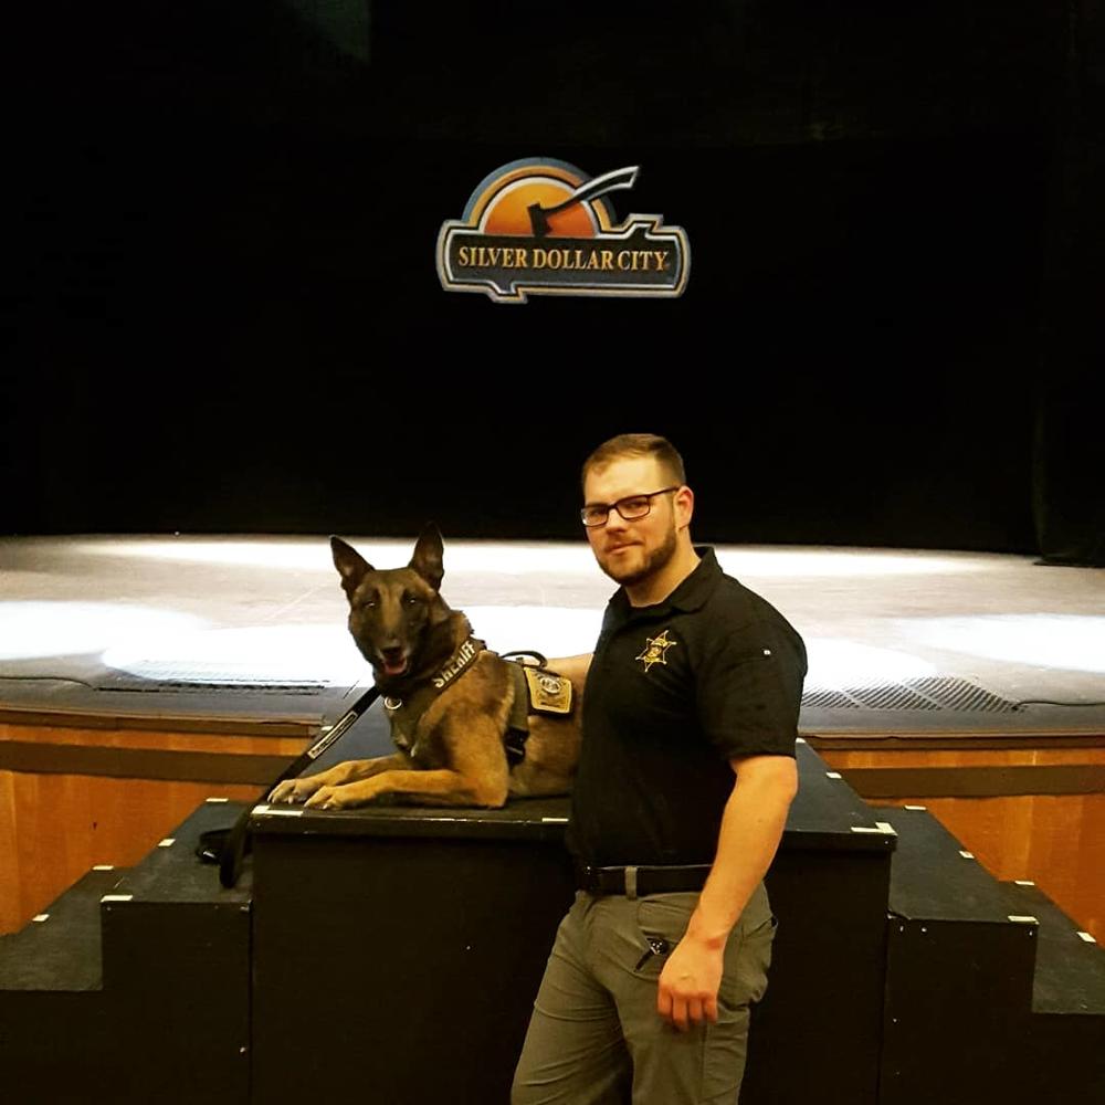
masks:
{"label": "lowest black step at the far right edge", "polygon": [[1034,1101],[1105,1101],[1105,949],[1032,883],[1000,883],[1011,912],[1039,922],[1023,1046]]}

